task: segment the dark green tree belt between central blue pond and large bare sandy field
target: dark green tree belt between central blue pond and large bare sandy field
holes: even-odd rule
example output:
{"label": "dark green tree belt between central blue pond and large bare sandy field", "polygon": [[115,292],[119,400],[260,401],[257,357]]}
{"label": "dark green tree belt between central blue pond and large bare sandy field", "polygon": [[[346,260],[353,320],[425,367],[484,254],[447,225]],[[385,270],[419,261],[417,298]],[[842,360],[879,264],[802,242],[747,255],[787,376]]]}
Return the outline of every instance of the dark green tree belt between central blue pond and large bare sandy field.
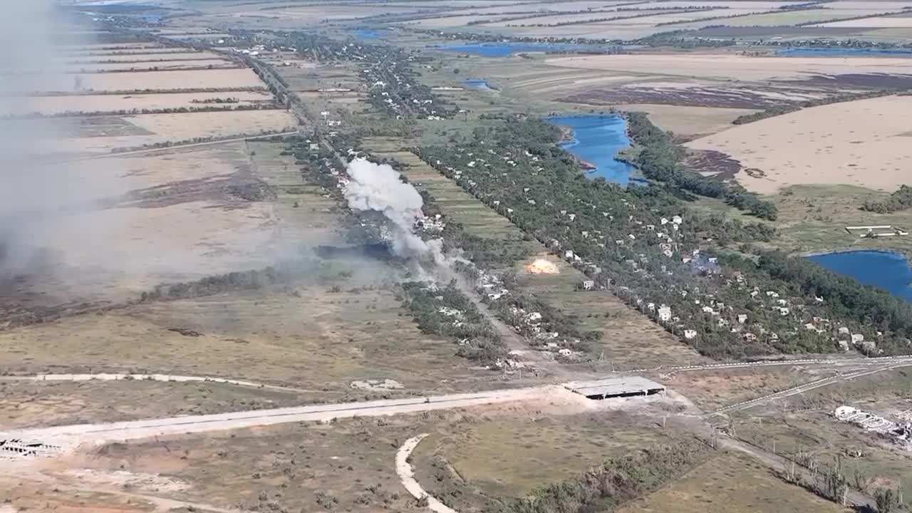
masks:
{"label": "dark green tree belt between central blue pond and large bare sandy field", "polygon": [[683,149],[668,132],[652,124],[646,114],[628,114],[627,130],[641,147],[635,160],[639,170],[648,179],[668,183],[692,194],[723,199],[725,203],[762,219],[776,219],[778,209],[772,202],[761,200],[757,194],[746,191],[741,185],[707,178],[684,167],[680,163],[684,156]]}

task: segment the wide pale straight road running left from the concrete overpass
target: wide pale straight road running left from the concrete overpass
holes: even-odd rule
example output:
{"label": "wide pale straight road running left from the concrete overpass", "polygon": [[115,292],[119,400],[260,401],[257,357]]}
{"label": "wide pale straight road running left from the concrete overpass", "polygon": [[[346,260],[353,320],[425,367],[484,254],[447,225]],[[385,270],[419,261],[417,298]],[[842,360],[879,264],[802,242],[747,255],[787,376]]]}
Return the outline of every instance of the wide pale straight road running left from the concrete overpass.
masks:
{"label": "wide pale straight road running left from the concrete overpass", "polygon": [[187,415],[102,424],[74,424],[56,427],[0,432],[0,439],[21,438],[44,444],[59,445],[64,450],[82,444],[104,444],[115,441],[149,438],[168,434],[193,434],[293,422],[328,422],[335,418],[379,416],[464,408],[482,404],[509,403],[541,399],[549,390],[571,393],[562,387],[544,386],[482,393],[387,399],[364,403],[318,404],[275,408],[230,414]]}

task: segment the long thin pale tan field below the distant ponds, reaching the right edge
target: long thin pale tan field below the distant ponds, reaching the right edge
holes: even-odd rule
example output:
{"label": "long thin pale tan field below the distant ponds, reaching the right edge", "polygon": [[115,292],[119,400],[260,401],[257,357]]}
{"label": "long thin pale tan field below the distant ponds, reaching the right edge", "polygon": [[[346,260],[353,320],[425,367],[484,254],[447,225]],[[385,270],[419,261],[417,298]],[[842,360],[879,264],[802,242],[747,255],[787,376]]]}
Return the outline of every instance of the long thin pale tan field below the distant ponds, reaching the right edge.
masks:
{"label": "long thin pale tan field below the distant ponds, reaching the right edge", "polygon": [[655,54],[550,58],[547,63],[565,68],[734,80],[797,80],[810,79],[814,75],[841,74],[912,74],[912,59],[877,57],[755,58],[732,54]]}

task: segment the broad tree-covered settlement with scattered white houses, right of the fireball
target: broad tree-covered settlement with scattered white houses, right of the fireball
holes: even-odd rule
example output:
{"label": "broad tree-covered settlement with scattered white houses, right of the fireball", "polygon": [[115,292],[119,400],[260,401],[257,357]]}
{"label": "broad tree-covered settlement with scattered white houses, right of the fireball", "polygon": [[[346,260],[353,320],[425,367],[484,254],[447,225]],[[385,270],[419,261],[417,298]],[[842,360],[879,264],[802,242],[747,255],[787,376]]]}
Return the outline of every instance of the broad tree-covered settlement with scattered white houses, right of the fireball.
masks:
{"label": "broad tree-covered settlement with scattered white houses, right of the fireball", "polygon": [[[896,322],[874,325],[870,320],[880,318],[866,312],[888,305],[888,319],[912,319],[912,307],[799,258],[784,257],[839,288],[811,287],[777,271],[769,258],[751,255],[755,240],[774,236],[768,226],[691,210],[666,187],[624,189],[589,180],[557,146],[559,135],[544,120],[516,118],[477,129],[466,141],[416,151],[525,233],[552,247],[558,243],[561,252],[572,250],[581,270],[632,307],[658,317],[658,305],[668,305],[675,319],[662,326],[708,356],[831,352],[840,327],[876,340],[886,352],[909,351]],[[504,162],[508,153],[515,166]],[[482,155],[485,162],[478,160]],[[672,215],[684,219],[678,230],[662,223]],[[862,304],[850,300],[853,294],[870,298],[865,314],[853,311]],[[874,304],[876,298],[886,303]],[[741,322],[742,315],[749,320]],[[814,330],[808,323],[816,323]],[[697,336],[685,337],[684,330]]]}

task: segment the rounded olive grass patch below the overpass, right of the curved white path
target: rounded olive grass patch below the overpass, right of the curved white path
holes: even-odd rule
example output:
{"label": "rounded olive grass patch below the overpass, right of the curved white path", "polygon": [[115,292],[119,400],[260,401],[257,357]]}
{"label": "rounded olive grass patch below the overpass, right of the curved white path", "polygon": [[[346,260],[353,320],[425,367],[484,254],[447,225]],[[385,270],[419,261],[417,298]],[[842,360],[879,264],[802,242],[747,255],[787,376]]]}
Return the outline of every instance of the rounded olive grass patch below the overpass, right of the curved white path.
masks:
{"label": "rounded olive grass patch below the overpass, right of the curved white path", "polygon": [[[615,412],[492,415],[471,424],[438,427],[413,453],[423,487],[437,497],[476,510],[481,497],[512,500],[535,488],[578,476],[606,459],[661,443],[666,434],[645,427],[649,419]],[[459,479],[444,479],[449,474]]]}

